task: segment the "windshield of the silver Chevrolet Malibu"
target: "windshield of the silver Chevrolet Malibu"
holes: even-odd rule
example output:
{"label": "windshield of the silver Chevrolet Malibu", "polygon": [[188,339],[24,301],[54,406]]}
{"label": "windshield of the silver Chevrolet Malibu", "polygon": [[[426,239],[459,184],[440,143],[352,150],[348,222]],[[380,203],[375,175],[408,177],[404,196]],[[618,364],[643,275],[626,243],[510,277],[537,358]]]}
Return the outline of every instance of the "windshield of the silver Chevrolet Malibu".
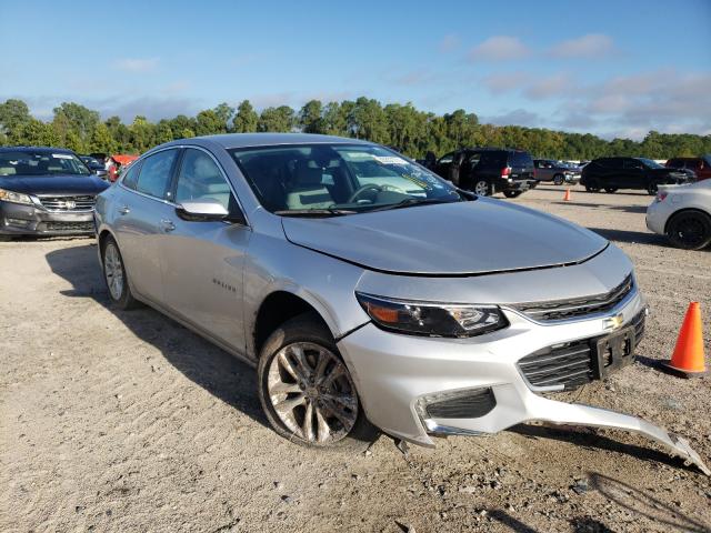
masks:
{"label": "windshield of the silver Chevrolet Malibu", "polygon": [[453,185],[377,145],[231,150],[262,205],[282,215],[353,214],[464,199]]}

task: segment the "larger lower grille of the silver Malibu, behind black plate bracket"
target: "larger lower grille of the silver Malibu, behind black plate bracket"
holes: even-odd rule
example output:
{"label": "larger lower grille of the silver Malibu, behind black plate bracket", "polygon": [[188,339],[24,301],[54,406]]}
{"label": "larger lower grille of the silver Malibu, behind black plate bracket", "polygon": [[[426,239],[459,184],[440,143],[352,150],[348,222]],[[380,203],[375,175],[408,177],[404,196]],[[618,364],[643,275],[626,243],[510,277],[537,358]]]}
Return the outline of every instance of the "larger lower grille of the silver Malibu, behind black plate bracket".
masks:
{"label": "larger lower grille of the silver Malibu, behind black plate bracket", "polygon": [[[644,335],[647,310],[640,311],[628,325],[634,325],[634,345]],[[598,379],[595,341],[601,336],[555,344],[519,360],[521,373],[534,388],[559,388],[569,391]]]}

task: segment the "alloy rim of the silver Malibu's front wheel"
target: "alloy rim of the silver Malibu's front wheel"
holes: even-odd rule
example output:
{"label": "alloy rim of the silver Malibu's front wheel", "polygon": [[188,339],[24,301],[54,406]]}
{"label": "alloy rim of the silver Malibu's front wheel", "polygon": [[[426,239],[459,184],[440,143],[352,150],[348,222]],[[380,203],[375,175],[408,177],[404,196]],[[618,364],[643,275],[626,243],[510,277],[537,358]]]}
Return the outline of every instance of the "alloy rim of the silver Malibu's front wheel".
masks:
{"label": "alloy rim of the silver Malibu's front wheel", "polygon": [[319,344],[282,348],[269,365],[267,389],[281,423],[309,443],[338,442],[356,425],[358,398],[350,373]]}

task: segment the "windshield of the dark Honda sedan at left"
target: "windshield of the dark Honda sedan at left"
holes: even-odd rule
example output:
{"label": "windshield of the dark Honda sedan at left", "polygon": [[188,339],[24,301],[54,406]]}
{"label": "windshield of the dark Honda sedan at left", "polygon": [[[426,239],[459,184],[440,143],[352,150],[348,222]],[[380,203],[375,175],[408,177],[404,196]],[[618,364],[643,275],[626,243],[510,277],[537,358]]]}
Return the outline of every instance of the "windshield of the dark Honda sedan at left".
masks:
{"label": "windshield of the dark Honda sedan at left", "polygon": [[11,150],[0,152],[0,175],[90,175],[89,169],[72,153]]}

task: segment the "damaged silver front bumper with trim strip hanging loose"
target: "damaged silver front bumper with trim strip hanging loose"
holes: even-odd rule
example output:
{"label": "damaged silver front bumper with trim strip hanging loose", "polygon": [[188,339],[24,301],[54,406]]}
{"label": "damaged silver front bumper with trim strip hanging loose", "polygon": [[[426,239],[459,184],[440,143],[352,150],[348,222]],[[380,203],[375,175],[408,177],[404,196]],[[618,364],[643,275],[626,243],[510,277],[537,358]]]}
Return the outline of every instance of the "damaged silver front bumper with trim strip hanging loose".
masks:
{"label": "damaged silver front bumper with trim strip hanging loose", "polygon": [[[555,388],[533,385],[532,373],[522,370],[524,358],[541,353],[554,359],[558,354],[551,349],[562,349],[589,356],[592,372],[599,360],[592,346],[611,332],[611,319],[614,332],[635,324],[634,331],[640,331],[642,318],[641,336],[645,312],[635,291],[620,306],[591,320],[539,324],[504,309],[511,325],[479,338],[417,338],[369,323],[338,345],[369,420],[414,444],[433,446],[432,435],[497,433],[527,422],[611,428],[645,435],[711,475],[683,439],[635,416],[544,398],[541,392]],[[590,346],[587,355],[580,348],[584,345]]]}

